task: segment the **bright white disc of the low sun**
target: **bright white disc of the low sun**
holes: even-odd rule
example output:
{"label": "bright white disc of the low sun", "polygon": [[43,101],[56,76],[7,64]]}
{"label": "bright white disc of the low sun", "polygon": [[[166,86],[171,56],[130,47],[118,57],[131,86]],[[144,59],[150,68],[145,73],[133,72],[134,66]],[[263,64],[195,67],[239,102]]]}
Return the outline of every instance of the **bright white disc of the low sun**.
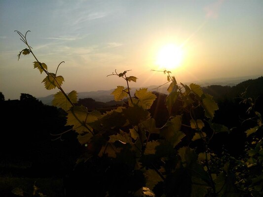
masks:
{"label": "bright white disc of the low sun", "polygon": [[159,69],[173,70],[181,66],[184,52],[175,44],[166,44],[160,48],[156,57],[156,65]]}

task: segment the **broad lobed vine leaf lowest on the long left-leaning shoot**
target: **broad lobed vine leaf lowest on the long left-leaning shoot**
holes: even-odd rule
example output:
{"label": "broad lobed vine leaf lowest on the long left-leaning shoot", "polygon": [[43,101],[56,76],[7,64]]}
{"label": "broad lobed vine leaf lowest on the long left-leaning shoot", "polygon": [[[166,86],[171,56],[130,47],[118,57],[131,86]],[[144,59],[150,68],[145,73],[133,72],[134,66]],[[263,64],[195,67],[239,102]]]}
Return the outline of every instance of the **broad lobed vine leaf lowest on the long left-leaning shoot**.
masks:
{"label": "broad lobed vine leaf lowest on the long left-leaning shoot", "polygon": [[93,129],[88,125],[101,117],[99,111],[88,112],[84,106],[74,106],[68,111],[67,123],[65,126],[73,125],[73,130],[81,134],[91,132]]}

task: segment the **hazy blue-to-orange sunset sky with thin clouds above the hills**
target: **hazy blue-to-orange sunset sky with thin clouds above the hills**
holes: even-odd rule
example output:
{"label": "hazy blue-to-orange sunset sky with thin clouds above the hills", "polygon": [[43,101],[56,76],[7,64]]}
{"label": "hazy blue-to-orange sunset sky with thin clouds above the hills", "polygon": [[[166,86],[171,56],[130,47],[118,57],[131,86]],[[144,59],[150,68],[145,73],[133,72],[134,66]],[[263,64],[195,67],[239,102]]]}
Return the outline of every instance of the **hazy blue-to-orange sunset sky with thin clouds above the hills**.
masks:
{"label": "hazy blue-to-orange sunset sky with thin clouds above the hills", "polygon": [[[178,82],[263,75],[263,0],[0,0],[0,92],[44,97],[45,78],[14,31],[27,34],[38,60],[58,69],[65,92],[126,86],[117,72],[131,70],[131,87],[166,82],[156,63],[163,45],[183,53],[172,71]],[[168,69],[168,68],[167,68]]]}

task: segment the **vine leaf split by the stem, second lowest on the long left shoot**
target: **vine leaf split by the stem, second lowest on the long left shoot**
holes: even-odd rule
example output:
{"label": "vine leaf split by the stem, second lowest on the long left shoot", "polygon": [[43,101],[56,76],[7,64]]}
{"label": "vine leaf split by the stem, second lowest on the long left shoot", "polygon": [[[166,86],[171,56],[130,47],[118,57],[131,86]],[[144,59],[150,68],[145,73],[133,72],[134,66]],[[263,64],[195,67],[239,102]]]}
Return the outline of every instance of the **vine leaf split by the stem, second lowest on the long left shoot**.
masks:
{"label": "vine leaf split by the stem, second lowest on the long left shoot", "polygon": [[[75,90],[71,91],[68,94],[68,98],[71,100],[72,103],[77,102],[77,92]],[[61,107],[65,111],[68,111],[70,107],[72,107],[72,104],[70,101],[65,97],[65,95],[59,91],[54,95],[54,99],[52,100],[52,104],[57,107]]]}

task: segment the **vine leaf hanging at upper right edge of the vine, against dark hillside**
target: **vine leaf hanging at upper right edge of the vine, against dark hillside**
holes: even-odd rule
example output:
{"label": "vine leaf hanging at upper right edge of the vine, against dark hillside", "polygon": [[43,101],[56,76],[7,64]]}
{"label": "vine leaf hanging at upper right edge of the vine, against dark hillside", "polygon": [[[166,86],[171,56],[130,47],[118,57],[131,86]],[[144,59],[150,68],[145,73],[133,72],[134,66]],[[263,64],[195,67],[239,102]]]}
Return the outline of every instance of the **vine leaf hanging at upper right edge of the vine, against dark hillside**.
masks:
{"label": "vine leaf hanging at upper right edge of the vine, against dark hillside", "polygon": [[202,106],[205,110],[205,116],[207,118],[213,119],[215,116],[215,111],[218,110],[217,103],[213,100],[213,97],[207,94],[202,95]]}

